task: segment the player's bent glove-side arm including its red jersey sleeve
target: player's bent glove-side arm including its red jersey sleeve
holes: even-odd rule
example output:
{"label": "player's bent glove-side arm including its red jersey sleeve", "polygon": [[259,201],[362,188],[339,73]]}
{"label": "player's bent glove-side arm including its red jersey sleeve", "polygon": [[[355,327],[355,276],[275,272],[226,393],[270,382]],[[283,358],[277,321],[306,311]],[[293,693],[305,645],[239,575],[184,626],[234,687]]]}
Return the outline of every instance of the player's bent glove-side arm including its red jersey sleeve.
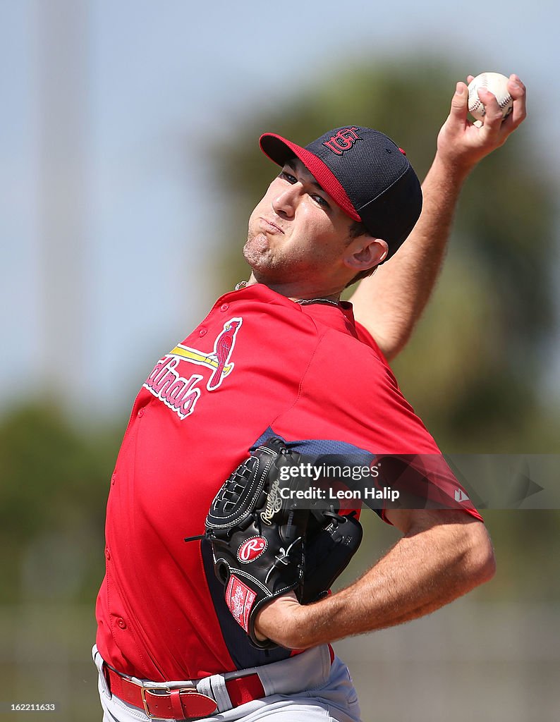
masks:
{"label": "player's bent glove-side arm including its red jersey sleeve", "polygon": [[[355,373],[340,373],[341,359]],[[360,373],[363,368],[368,373]],[[494,553],[480,515],[468,496],[457,500],[457,479],[374,349],[328,331],[299,390],[298,401],[275,419],[277,435],[309,439],[311,425],[321,444],[332,440],[350,462],[363,450],[378,450],[371,453],[379,484],[400,491],[398,508],[386,503],[383,518],[402,538],[360,579],[326,599],[305,605],[290,596],[275,599],[257,613],[257,633],[288,648],[308,648],[421,617],[491,578]],[[313,448],[311,440],[306,447]],[[323,447],[312,453],[324,454]]]}

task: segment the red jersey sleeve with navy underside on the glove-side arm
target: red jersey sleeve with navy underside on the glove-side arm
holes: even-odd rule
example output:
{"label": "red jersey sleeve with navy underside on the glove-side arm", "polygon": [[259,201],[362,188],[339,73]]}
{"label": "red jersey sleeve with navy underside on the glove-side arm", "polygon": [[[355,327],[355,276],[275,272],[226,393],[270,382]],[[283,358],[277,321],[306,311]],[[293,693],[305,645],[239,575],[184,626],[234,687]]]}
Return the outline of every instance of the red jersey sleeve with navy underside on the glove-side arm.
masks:
{"label": "red jersey sleeve with navy underside on the glove-side arm", "polygon": [[[328,331],[296,402],[273,429],[288,442],[306,440],[311,453],[314,446],[318,453],[336,448],[349,463],[369,453],[382,471],[376,484],[398,484],[402,491],[400,508],[455,508],[481,519],[375,342]],[[382,502],[384,521],[387,508],[389,502]]]}

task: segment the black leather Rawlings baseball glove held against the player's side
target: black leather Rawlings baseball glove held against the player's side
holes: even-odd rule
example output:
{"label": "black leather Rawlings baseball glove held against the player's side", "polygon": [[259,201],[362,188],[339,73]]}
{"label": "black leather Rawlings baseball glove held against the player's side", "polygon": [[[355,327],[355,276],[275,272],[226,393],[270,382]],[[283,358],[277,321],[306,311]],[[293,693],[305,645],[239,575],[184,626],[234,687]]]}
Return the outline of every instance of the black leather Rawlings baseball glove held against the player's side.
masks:
{"label": "black leather Rawlings baseball glove held against the player's side", "polygon": [[202,535],[212,546],[231,614],[260,649],[277,645],[257,639],[257,612],[288,591],[301,604],[320,599],[361,541],[353,516],[293,497],[291,492],[309,484],[283,470],[302,458],[278,438],[259,446],[217,492]]}

